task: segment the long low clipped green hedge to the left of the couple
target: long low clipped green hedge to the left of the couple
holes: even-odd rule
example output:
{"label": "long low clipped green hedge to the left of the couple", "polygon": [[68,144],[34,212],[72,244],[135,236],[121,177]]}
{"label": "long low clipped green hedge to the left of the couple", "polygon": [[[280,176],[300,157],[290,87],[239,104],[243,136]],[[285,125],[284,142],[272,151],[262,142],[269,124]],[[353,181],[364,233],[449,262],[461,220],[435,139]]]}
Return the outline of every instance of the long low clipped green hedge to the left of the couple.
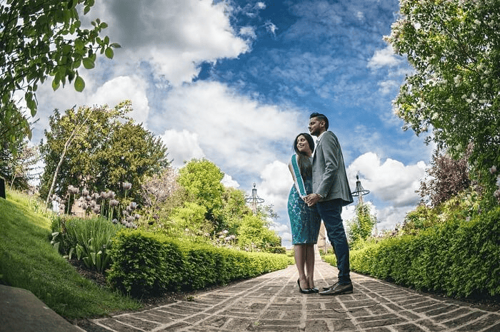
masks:
{"label": "long low clipped green hedge to the left of the couple", "polygon": [[202,289],[293,264],[286,255],[178,242],[140,230],[116,234],[110,254],[113,264],[107,274],[109,282],[134,297]]}

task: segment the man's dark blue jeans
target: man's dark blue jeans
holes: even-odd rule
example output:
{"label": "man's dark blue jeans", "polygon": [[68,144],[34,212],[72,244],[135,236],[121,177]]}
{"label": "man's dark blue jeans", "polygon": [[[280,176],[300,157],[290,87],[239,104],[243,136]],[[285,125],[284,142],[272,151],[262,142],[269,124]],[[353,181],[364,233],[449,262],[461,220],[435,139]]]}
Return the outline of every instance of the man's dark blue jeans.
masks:
{"label": "man's dark blue jeans", "polygon": [[346,232],[344,224],[342,224],[342,201],[341,199],[332,199],[318,202],[316,207],[325,224],[328,239],[334,247],[337,269],[339,269],[339,282],[349,284],[351,282],[349,276],[349,244],[347,244]]}

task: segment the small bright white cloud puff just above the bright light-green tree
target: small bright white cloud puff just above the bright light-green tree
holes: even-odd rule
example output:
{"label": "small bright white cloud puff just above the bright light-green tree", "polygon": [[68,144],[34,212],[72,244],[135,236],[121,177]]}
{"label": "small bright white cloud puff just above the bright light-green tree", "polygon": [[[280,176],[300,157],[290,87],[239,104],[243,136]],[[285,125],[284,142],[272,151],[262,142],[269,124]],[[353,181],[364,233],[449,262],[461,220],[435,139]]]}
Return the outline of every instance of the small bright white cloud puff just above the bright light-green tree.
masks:
{"label": "small bright white cloud puff just above the bright light-green tree", "polygon": [[172,166],[176,168],[182,167],[185,161],[205,156],[196,133],[190,133],[188,130],[166,130],[161,139],[168,149]]}

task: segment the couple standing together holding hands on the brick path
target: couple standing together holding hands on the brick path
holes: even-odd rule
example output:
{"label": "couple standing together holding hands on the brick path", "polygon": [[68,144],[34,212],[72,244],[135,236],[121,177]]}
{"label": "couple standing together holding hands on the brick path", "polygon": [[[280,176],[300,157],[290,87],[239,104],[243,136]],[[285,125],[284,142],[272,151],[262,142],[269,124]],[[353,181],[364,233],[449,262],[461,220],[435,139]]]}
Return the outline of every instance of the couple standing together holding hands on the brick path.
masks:
{"label": "couple standing together holding hands on the brick path", "polygon": [[[288,201],[291,242],[299,271],[297,284],[304,294],[339,295],[350,294],[353,290],[349,276],[349,246],[341,219],[342,207],[351,204],[353,199],[339,140],[328,127],[325,115],[312,113],[309,133],[316,136],[316,148],[311,135],[297,135],[295,155],[291,156],[289,164],[294,178]],[[334,247],[339,269],[338,281],[324,287],[323,291],[314,286],[314,244],[318,242],[321,219]]]}

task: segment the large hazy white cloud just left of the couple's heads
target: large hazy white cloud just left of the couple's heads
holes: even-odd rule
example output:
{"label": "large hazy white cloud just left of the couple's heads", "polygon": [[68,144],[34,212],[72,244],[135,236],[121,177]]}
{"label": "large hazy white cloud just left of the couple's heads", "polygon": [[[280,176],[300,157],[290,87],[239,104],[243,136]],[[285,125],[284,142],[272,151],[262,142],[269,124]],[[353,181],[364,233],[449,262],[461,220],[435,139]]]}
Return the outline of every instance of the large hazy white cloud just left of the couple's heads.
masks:
{"label": "large hazy white cloud just left of the couple's heads", "polygon": [[260,172],[306,123],[296,110],[260,104],[218,82],[174,88],[162,105],[159,120],[203,138],[199,147],[231,175]]}

